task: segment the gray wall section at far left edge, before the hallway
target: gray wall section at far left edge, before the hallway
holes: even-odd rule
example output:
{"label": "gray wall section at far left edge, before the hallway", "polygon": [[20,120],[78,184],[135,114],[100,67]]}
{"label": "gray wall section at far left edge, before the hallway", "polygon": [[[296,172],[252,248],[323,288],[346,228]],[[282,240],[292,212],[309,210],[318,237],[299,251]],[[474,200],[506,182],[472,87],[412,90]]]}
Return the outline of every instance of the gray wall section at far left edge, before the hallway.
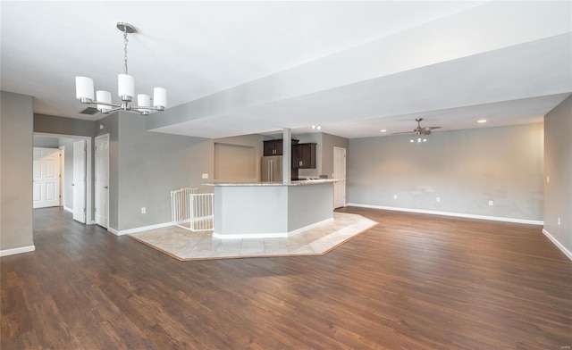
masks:
{"label": "gray wall section at far left edge, before the hallway", "polygon": [[0,251],[33,246],[31,96],[0,92]]}

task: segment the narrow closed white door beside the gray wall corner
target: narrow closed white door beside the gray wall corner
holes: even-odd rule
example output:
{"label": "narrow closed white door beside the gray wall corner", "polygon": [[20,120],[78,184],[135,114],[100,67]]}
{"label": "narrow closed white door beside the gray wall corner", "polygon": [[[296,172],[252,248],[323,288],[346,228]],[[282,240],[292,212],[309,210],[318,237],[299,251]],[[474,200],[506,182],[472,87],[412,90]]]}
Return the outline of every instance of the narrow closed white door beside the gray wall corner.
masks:
{"label": "narrow closed white door beside the gray wall corner", "polygon": [[107,229],[109,215],[109,135],[96,137],[96,224]]}

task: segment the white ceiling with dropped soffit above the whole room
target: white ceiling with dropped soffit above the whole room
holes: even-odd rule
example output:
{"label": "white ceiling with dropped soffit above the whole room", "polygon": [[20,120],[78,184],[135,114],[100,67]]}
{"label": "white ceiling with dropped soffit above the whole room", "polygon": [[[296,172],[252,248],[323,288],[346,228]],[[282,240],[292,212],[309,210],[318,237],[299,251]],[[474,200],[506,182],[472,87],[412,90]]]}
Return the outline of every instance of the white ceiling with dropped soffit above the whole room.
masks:
{"label": "white ceiling with dropped soffit above the whole room", "polygon": [[542,121],[572,93],[572,2],[1,3],[1,88],[80,114],[74,77],[116,93],[118,21],[136,93],[168,91],[149,129],[197,137],[282,128],[371,137]]}

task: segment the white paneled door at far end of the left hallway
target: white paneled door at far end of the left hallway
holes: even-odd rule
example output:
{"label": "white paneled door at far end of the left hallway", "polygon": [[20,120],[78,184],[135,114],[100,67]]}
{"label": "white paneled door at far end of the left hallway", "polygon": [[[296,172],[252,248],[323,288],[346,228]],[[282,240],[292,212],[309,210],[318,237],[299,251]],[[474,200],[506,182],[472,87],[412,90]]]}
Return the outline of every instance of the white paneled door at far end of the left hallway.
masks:
{"label": "white paneled door at far end of the left hallway", "polygon": [[34,147],[33,208],[60,205],[60,150]]}

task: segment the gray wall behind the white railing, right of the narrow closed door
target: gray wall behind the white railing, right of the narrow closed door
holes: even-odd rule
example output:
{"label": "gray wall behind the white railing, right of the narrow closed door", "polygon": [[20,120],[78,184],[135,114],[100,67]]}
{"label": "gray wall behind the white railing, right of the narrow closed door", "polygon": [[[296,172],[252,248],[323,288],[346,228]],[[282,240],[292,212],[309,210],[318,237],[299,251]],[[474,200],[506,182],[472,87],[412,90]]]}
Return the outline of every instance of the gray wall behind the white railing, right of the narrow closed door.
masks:
{"label": "gray wall behind the white railing, right of the narrow closed door", "polygon": [[172,189],[212,192],[201,175],[213,173],[213,141],[149,132],[146,118],[118,112],[97,121],[97,134],[110,134],[109,226],[117,231],[171,221]]}

